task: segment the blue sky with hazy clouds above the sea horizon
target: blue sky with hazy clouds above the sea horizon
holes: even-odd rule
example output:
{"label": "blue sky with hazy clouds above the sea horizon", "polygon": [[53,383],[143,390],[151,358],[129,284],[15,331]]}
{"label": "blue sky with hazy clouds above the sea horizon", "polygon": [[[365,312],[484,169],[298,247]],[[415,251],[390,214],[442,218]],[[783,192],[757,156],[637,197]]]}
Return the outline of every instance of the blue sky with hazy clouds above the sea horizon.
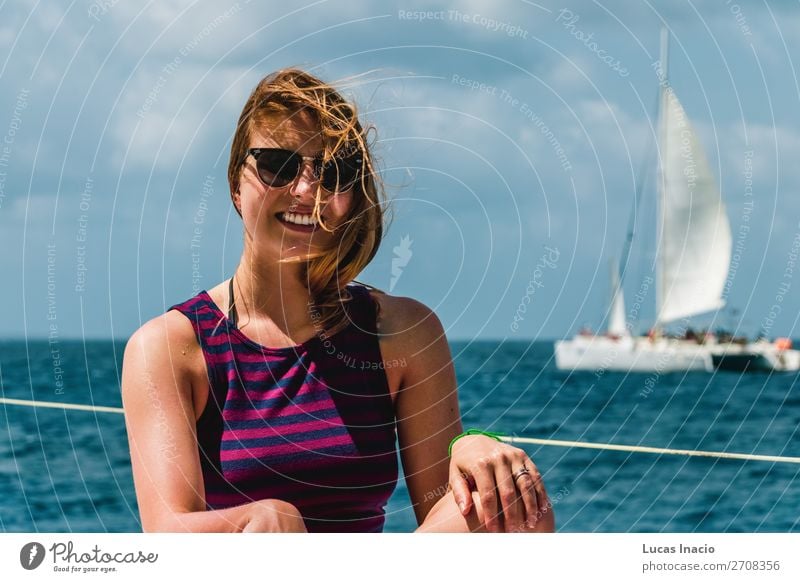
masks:
{"label": "blue sky with hazy clouds above the sea horizon", "polygon": [[16,0],[0,337],[124,339],[228,278],[231,137],[286,66],[338,82],[375,127],[392,222],[359,280],[425,303],[452,340],[597,329],[641,192],[623,286],[643,331],[662,26],[738,244],[727,306],[698,325],[800,335],[797,2]]}

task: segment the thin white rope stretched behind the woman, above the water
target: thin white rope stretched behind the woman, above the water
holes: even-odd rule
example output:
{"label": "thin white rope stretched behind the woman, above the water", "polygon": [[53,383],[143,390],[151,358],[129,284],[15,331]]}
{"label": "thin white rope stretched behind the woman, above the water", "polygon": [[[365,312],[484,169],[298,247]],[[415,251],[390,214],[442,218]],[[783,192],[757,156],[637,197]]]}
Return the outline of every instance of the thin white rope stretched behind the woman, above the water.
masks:
{"label": "thin white rope stretched behind the woman, above the water", "polygon": [[[88,412],[110,412],[124,414],[122,408],[111,406],[90,406],[87,404],[67,404],[64,402],[46,402],[43,400],[18,400],[16,398],[0,398],[0,404],[16,406],[38,406],[41,408],[62,408],[64,410],[85,410]],[[571,447],[576,449],[599,449],[603,451],[625,451],[630,453],[649,453],[653,455],[683,455],[686,457],[714,457],[718,459],[738,459],[741,461],[768,461],[771,463],[800,464],[800,457],[779,457],[775,455],[750,455],[747,453],[723,453],[714,451],[692,451],[686,449],[660,449],[657,447],[641,447],[637,445],[614,445],[610,443],[585,443],[580,441],[559,441],[555,439],[535,439],[529,437],[501,436],[507,443],[526,445],[542,445],[547,447]]]}

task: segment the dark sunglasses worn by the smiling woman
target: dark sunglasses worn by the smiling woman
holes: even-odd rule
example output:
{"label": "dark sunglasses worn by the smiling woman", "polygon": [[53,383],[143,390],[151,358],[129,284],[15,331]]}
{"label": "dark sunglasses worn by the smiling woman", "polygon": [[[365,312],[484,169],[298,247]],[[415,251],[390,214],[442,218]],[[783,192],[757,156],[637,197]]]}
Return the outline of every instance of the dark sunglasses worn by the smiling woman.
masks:
{"label": "dark sunglasses worn by the smiling woman", "polygon": [[256,160],[256,172],[261,181],[273,188],[287,186],[297,179],[303,161],[313,162],[314,177],[328,192],[349,190],[358,180],[363,164],[360,152],[351,156],[334,156],[322,161],[322,155],[301,156],[297,152],[280,148],[251,148],[247,154]]}

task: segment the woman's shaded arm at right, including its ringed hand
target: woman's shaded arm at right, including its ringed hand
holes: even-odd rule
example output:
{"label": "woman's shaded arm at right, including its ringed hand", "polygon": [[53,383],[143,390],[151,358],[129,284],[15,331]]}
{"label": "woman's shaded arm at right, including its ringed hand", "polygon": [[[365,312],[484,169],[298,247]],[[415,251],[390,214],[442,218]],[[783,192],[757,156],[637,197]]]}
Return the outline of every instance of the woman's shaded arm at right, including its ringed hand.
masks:
{"label": "woman's shaded arm at right, including its ringed hand", "polygon": [[[453,458],[448,458],[450,441],[463,429],[442,324],[417,301],[379,297],[383,357],[408,362],[395,408],[400,454],[418,524],[423,525],[436,506],[439,524],[426,523],[422,529],[476,531],[478,523],[494,532],[552,531],[552,510],[541,476],[523,450],[486,436],[467,436],[459,439]],[[515,478],[513,473],[523,467],[530,474]],[[468,483],[477,491],[470,491]]]}

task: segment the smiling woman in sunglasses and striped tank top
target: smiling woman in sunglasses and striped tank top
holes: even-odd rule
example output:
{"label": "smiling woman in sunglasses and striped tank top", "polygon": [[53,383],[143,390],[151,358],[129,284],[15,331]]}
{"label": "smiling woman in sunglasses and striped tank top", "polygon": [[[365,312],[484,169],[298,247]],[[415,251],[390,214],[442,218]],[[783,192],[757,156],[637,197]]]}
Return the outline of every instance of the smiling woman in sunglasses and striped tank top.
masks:
{"label": "smiling woman in sunglasses and striped tank top", "polygon": [[145,531],[381,531],[396,440],[418,531],[552,531],[527,455],[459,436],[433,312],[353,283],[383,233],[366,135],[303,71],[245,104],[228,166],[241,261],[125,350]]}

